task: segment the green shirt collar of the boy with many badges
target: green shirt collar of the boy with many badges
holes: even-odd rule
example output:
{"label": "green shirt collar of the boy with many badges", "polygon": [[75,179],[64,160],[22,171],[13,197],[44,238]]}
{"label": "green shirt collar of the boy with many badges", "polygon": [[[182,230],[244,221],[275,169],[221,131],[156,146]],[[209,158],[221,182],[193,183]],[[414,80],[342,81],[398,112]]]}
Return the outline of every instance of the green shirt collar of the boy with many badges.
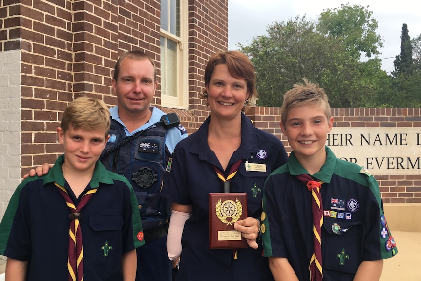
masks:
{"label": "green shirt collar of the boy with many badges", "polygon": [[[325,146],[325,149],[326,162],[320,168],[320,171],[318,171],[315,174],[312,174],[311,176],[314,176],[318,180],[322,180],[326,183],[330,183],[332,175],[335,171],[337,158],[329,147]],[[301,165],[301,163],[298,162],[298,159],[295,157],[294,151],[291,152],[290,157],[288,159],[288,169],[290,171],[290,174],[294,176],[299,174],[309,174],[309,172],[307,172],[307,170]]]}

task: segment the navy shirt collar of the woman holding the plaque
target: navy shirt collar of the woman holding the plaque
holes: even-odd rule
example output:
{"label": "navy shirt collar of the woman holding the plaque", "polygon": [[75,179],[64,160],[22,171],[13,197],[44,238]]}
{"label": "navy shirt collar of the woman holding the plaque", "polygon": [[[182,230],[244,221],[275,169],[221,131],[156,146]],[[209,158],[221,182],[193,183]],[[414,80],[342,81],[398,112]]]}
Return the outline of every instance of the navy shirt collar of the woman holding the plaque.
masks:
{"label": "navy shirt collar of the woman holding the plaque", "polygon": [[[211,164],[220,167],[220,163],[215,156],[215,153],[210,150],[208,146],[208,129],[210,123],[209,116],[205,122],[199,127],[196,134],[197,137],[193,141],[190,152],[199,155],[200,160],[205,160]],[[251,153],[256,153],[259,151],[259,146],[257,143],[257,137],[255,133],[255,127],[253,126],[252,121],[244,113],[241,113],[241,145],[234,151],[228,166],[233,162],[236,162],[240,159],[250,158]]]}

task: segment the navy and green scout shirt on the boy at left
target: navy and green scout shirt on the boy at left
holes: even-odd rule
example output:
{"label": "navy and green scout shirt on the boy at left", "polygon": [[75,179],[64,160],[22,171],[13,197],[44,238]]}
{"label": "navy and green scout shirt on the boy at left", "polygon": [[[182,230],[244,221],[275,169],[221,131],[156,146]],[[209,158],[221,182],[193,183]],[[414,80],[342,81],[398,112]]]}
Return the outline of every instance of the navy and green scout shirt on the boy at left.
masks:
{"label": "navy and green scout shirt on the boy at left", "polygon": [[[75,204],[78,199],[63,177],[63,162],[64,155],[48,174],[25,179],[1,221],[0,254],[28,261],[27,280],[68,280],[70,209],[54,183],[65,187]],[[92,188],[98,190],[79,219],[84,280],[123,280],[122,254],[144,244],[134,192],[126,178],[99,161],[83,194]],[[112,249],[102,250],[105,244]]]}

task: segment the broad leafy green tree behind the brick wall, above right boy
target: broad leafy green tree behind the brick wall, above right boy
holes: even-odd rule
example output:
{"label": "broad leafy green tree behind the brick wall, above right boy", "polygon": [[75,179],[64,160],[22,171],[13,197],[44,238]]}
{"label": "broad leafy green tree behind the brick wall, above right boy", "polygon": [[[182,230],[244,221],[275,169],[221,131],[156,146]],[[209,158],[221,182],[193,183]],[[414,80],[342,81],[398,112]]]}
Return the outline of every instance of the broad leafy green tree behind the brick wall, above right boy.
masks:
{"label": "broad leafy green tree behind the brick wall, above right boy", "polygon": [[374,104],[379,81],[387,74],[379,58],[360,62],[359,54],[378,54],[381,40],[375,27],[371,12],[342,5],[339,10],[325,11],[318,23],[305,16],[274,22],[267,35],[254,38],[248,46],[239,44],[256,69],[257,104],[281,106],[283,94],[304,77],[326,90],[334,108]]}

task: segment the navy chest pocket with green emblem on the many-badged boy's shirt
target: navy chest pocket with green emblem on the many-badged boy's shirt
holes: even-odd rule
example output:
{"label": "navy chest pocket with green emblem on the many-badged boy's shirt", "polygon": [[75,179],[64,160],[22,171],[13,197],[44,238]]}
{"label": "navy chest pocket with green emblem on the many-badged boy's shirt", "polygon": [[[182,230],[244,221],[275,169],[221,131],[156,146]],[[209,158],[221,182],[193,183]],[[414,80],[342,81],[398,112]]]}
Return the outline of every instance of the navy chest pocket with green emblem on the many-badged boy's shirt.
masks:
{"label": "navy chest pocket with green emblem on the many-badged boy's shirt", "polygon": [[327,271],[355,274],[361,261],[362,225],[325,217],[323,230],[323,268]]}

